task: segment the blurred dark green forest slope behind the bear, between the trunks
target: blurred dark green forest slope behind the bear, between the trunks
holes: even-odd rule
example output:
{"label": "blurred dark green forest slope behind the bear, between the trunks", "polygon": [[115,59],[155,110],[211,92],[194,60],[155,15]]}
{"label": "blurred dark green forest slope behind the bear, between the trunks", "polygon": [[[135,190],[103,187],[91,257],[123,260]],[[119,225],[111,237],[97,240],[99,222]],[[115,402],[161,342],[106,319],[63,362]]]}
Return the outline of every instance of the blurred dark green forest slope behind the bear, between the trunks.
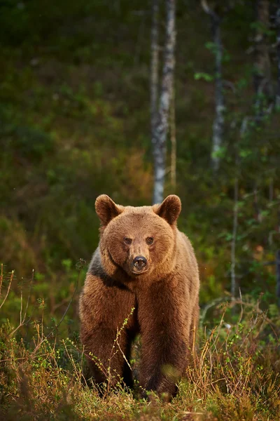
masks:
{"label": "blurred dark green forest slope behind the bear, between the trunks", "polygon": [[[94,213],[98,194],[106,192],[124,204],[151,201],[150,40],[141,33],[146,33],[149,22],[134,13],[148,7],[140,1],[133,8],[123,1],[121,9],[106,2],[64,0],[1,5],[0,258],[19,278],[29,276],[31,269],[45,275],[46,280],[38,284],[42,283],[46,295],[50,295],[50,279],[66,295],[67,283],[60,276],[68,270],[62,265],[64,260],[90,260],[98,241]],[[240,194],[251,194],[258,185],[262,218],[262,222],[256,220],[253,200],[246,201],[242,215],[239,209],[241,288],[254,287],[256,272],[244,274],[244,267],[259,270],[253,265],[255,247],[264,248],[263,261],[267,256],[273,260],[279,240],[275,229],[279,166],[274,153],[279,119],[273,114],[260,125],[248,119],[250,130],[239,140],[242,119],[252,112],[252,67],[244,53],[254,30],[250,10],[238,4],[223,23],[223,55],[232,55],[230,64],[229,57],[224,63],[225,78],[235,89],[224,88],[230,129],[216,154],[222,161],[221,171],[213,178],[209,155],[214,58],[209,51],[215,53],[214,45],[207,42],[209,28],[201,19],[207,17],[200,5],[193,2],[187,10],[179,2],[177,8],[176,193],[183,201],[180,224],[194,243],[207,290],[202,293],[202,305],[216,298],[212,281],[208,290],[209,279],[215,279],[217,291],[229,286],[237,142]],[[98,21],[93,18],[97,15]],[[186,88],[186,78],[193,76],[195,83]],[[269,207],[267,190],[272,182],[275,204]],[[174,189],[167,176],[169,192]],[[269,245],[267,232],[272,233]],[[239,265],[245,258],[248,262]],[[264,272],[270,293],[275,286],[271,269],[266,267]]]}

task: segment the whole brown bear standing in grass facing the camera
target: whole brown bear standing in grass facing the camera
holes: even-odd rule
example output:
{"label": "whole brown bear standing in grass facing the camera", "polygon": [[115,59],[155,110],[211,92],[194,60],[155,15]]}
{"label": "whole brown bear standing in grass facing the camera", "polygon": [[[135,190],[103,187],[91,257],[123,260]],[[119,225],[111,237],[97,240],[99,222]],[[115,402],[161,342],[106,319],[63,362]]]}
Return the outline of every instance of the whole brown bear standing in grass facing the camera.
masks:
{"label": "whole brown bear standing in grass facing the camera", "polygon": [[120,206],[102,194],[95,209],[100,241],[80,295],[80,338],[94,380],[132,386],[130,349],[140,333],[141,387],[173,396],[199,317],[197,260],[176,227],[181,201]]}

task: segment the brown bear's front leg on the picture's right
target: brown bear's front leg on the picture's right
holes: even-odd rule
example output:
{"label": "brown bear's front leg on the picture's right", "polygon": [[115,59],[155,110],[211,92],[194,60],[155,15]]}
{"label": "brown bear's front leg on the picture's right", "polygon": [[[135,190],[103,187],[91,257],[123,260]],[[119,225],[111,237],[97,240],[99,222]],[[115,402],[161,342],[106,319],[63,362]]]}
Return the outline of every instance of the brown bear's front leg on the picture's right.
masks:
{"label": "brown bear's front leg on the picture's right", "polygon": [[190,316],[186,291],[165,281],[139,295],[142,357],[140,385],[171,399],[176,381],[186,370],[190,344]]}

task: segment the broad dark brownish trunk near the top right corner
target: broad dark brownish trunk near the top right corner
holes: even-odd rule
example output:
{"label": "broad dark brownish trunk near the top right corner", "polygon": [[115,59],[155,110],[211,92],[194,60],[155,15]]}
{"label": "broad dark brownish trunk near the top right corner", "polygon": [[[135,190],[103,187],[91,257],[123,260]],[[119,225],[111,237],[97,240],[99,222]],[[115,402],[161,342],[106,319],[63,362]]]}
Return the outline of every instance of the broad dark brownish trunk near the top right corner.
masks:
{"label": "broad dark brownish trunk near the top right corner", "polygon": [[256,118],[262,117],[265,105],[273,98],[267,34],[269,29],[269,0],[256,1],[257,27],[255,30],[255,64],[253,83],[255,88]]}

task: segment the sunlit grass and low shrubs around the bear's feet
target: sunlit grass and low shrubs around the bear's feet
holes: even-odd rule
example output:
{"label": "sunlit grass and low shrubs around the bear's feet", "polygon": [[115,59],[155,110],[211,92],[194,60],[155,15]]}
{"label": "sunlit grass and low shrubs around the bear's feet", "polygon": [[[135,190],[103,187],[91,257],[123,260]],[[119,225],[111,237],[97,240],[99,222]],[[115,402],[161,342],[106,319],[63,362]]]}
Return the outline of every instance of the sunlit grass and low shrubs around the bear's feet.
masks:
{"label": "sunlit grass and low shrubs around the bear's feet", "polygon": [[[277,309],[264,311],[259,301],[240,296],[214,304],[204,314],[194,360],[179,393],[167,403],[159,396],[140,399],[121,386],[105,386],[104,396],[85,380],[78,335],[64,338],[66,312],[47,326],[45,305],[36,319],[29,296],[18,326],[4,321],[10,283],[1,273],[0,417],[5,420],[279,420],[280,321]],[[75,295],[73,292],[73,295]],[[73,297],[72,297],[73,298]],[[11,298],[13,299],[13,297]],[[133,311],[133,309],[132,309]],[[127,315],[128,317],[130,315]],[[218,321],[218,322],[217,322]],[[124,321],[125,327],[125,321]],[[116,343],[118,342],[118,335]],[[121,352],[121,350],[120,350]],[[137,371],[139,340],[132,370]]]}

